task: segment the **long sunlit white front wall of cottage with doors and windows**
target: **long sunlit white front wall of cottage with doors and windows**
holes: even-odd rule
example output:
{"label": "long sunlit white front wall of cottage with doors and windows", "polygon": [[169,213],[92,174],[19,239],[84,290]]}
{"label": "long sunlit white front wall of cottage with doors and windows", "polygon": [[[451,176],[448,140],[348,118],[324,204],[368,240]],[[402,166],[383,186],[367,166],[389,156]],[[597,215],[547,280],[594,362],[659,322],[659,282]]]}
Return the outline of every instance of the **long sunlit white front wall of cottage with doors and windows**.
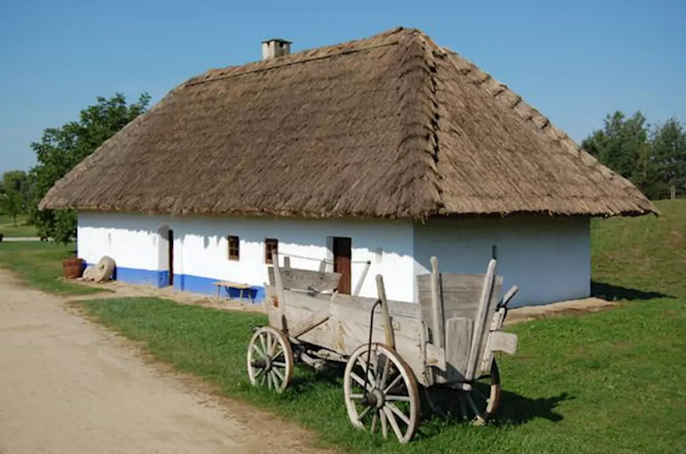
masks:
{"label": "long sunlit white front wall of cottage with doors and windows", "polygon": [[[79,214],[78,252],[88,263],[103,255],[117,267],[165,270],[165,239],[161,227],[174,230],[174,280],[233,280],[263,286],[268,280],[264,239],[279,240],[279,252],[324,259],[331,256],[330,237],[352,238],[353,262],[372,261],[361,295],[377,295],[375,275],[382,274],[388,298],[412,299],[414,294],[413,226],[410,222],[359,222],[329,219],[268,219],[239,217],[171,218],[126,213]],[[240,261],[228,260],[226,237],[240,240]],[[282,256],[283,259],[283,256]],[[319,263],[292,258],[291,265],[316,270]],[[351,265],[354,289],[364,263]],[[193,287],[195,284],[191,285]]]}

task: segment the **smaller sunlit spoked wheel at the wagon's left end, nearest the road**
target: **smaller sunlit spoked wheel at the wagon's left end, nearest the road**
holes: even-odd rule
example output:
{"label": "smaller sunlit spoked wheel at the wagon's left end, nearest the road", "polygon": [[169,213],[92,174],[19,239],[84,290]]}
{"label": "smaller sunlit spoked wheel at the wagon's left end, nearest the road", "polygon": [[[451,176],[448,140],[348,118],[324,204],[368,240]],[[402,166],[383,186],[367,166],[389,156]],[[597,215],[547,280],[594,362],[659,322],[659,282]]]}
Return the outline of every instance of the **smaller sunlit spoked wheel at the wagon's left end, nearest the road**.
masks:
{"label": "smaller sunlit spoked wheel at the wagon's left end, nearest the road", "polygon": [[283,392],[293,378],[293,351],[287,337],[270,326],[255,331],[248,345],[248,378],[253,385]]}

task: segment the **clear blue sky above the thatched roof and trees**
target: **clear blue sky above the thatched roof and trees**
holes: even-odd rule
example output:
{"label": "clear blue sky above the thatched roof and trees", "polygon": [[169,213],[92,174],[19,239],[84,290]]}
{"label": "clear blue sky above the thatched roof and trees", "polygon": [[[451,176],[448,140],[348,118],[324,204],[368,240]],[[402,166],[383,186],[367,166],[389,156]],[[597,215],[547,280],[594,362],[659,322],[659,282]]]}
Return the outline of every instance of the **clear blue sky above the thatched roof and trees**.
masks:
{"label": "clear blue sky above the thatched roof and trees", "polygon": [[29,169],[43,129],[95,97],[153,103],[211,67],[402,25],[450,47],[580,141],[606,113],[686,121],[686,1],[0,2],[0,171]]}

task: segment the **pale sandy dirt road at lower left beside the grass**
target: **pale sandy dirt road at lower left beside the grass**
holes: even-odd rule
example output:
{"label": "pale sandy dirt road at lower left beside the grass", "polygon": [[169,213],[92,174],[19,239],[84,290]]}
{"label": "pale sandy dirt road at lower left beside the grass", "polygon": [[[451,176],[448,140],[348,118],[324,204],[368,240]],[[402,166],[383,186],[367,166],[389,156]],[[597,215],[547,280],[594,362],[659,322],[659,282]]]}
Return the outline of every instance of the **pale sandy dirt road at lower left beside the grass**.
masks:
{"label": "pale sandy dirt road at lower left beside the grass", "polygon": [[0,454],[319,453],[0,270]]}

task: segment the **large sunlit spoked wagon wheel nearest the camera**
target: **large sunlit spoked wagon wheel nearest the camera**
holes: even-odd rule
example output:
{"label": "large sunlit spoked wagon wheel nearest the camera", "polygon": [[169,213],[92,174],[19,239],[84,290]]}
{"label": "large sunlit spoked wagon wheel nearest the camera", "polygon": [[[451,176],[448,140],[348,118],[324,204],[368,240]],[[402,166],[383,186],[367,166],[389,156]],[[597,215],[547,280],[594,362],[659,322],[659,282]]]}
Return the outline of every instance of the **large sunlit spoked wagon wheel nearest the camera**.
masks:
{"label": "large sunlit spoked wagon wheel nearest the camera", "polygon": [[419,392],[412,369],[397,353],[383,344],[359,346],[348,359],[343,381],[355,427],[374,435],[380,422],[383,438],[388,438],[390,425],[399,442],[412,439],[419,425]]}

